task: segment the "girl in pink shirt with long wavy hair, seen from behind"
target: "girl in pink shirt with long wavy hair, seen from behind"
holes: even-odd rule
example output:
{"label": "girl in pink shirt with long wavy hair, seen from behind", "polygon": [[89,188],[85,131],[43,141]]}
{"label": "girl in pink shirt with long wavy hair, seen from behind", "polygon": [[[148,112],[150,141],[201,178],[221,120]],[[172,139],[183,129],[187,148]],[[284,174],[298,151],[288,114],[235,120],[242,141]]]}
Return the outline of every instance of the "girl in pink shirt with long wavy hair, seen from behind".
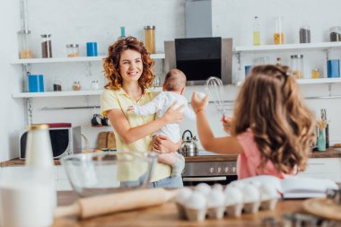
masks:
{"label": "girl in pink shirt with long wavy hair, seen from behind", "polygon": [[235,100],[234,118],[223,118],[231,136],[214,137],[205,117],[207,100],[192,97],[200,142],[214,153],[240,153],[239,179],[257,175],[284,179],[305,169],[315,120],[288,67],[253,67]]}

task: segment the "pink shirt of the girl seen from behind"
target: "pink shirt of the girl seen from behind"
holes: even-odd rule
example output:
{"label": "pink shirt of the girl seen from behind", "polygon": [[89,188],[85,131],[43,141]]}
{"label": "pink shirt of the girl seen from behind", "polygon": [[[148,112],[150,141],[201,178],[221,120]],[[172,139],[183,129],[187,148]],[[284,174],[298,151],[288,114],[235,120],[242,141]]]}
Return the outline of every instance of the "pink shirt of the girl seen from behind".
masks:
{"label": "pink shirt of the girl seen from behind", "polygon": [[258,150],[253,132],[250,128],[248,128],[246,132],[237,135],[237,140],[243,149],[243,153],[240,153],[237,159],[238,179],[245,179],[258,175],[272,175],[279,179],[284,179],[296,174],[296,170],[293,170],[292,174],[279,172],[275,169],[275,165],[271,161],[268,161],[264,168],[258,168],[262,154]]}

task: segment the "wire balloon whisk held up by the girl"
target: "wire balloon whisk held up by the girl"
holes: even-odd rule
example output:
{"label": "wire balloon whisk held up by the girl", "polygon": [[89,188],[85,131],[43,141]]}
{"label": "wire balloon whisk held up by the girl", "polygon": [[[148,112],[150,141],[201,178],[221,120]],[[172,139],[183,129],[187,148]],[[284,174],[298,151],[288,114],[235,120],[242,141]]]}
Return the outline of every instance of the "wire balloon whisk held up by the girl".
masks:
{"label": "wire balloon whisk held up by the girl", "polygon": [[223,105],[223,82],[221,79],[215,76],[211,76],[206,80],[205,87],[208,89],[212,97],[214,98],[215,109],[218,110],[223,117],[225,116],[225,111]]}

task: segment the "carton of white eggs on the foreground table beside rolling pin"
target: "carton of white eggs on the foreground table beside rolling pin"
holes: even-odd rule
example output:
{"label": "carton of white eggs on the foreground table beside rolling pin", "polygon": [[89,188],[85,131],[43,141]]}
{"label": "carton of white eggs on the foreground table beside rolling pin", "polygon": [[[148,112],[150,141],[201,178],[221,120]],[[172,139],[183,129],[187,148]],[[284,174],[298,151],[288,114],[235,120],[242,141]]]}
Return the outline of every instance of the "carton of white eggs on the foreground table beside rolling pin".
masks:
{"label": "carton of white eggs on the foreground table beside rolling pin", "polygon": [[[176,205],[181,219],[203,222],[205,218],[223,219],[224,216],[238,217],[241,214],[257,214],[259,210],[274,210],[278,196],[262,197],[261,195],[261,187],[250,184],[242,187],[241,185],[232,185],[223,191],[223,186],[214,185],[211,188],[202,183],[193,190],[182,188],[179,191]],[[237,198],[237,201],[230,201],[226,196],[233,196],[232,198]],[[247,201],[244,201],[242,196]]]}

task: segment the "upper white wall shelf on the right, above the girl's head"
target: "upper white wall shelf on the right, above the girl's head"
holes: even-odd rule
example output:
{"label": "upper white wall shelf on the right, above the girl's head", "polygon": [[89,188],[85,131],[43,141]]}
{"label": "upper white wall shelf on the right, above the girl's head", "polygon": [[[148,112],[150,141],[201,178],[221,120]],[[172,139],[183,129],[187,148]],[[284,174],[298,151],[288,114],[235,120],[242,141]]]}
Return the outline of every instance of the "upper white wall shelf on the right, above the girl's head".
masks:
{"label": "upper white wall shelf on the right, above the girl's head", "polygon": [[262,52],[262,51],[284,51],[284,50],[313,50],[341,48],[341,42],[320,42],[320,43],[294,43],[284,45],[261,45],[261,46],[240,46],[235,47],[233,52]]}

